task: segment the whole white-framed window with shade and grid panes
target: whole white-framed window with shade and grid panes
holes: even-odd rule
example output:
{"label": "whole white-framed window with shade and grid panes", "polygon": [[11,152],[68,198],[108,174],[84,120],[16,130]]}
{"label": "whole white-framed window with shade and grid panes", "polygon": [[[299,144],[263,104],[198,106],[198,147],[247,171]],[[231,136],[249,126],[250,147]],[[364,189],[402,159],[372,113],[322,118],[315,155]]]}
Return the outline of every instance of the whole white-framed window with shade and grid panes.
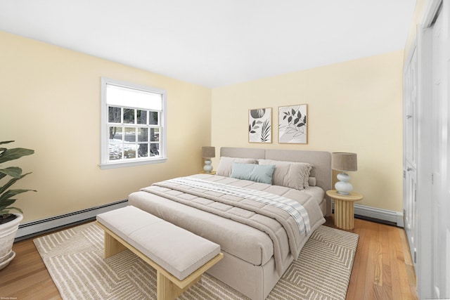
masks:
{"label": "whole white-framed window with shade and grid panes", "polygon": [[101,169],[165,162],[166,95],[101,79]]}

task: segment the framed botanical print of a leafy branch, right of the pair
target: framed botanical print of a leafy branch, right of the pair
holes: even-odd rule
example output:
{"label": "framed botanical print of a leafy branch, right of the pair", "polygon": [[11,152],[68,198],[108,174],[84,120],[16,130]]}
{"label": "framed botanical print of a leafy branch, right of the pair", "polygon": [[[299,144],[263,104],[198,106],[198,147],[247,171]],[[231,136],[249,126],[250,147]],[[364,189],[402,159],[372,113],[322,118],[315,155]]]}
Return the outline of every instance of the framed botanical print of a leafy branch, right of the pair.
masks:
{"label": "framed botanical print of a leafy branch, right of the pair", "polygon": [[308,143],[308,105],[278,107],[278,143]]}

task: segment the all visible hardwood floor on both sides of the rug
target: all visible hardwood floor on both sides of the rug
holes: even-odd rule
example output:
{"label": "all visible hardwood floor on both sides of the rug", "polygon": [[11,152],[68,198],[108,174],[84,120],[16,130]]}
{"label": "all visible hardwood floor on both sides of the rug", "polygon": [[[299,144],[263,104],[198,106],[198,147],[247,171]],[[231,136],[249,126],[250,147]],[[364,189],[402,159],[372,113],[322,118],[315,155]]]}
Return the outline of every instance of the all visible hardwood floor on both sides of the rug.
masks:
{"label": "all visible hardwood floor on both sides of the rug", "polygon": [[[327,218],[333,226],[333,216]],[[402,228],[355,219],[359,234],[347,300],[418,299],[416,275]],[[0,270],[0,299],[61,299],[32,239],[13,246],[15,259]]]}

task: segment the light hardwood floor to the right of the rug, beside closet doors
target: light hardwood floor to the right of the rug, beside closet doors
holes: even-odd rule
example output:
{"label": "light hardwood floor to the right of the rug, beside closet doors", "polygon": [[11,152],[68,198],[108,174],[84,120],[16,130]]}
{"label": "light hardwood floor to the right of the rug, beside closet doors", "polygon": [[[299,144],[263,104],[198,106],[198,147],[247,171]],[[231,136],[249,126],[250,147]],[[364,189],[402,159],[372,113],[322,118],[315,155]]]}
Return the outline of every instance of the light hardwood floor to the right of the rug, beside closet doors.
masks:
{"label": "light hardwood floor to the right of the rug, beside closet doors", "polygon": [[[333,219],[326,225],[333,226]],[[416,273],[403,228],[355,219],[359,235],[347,300],[418,299]]]}

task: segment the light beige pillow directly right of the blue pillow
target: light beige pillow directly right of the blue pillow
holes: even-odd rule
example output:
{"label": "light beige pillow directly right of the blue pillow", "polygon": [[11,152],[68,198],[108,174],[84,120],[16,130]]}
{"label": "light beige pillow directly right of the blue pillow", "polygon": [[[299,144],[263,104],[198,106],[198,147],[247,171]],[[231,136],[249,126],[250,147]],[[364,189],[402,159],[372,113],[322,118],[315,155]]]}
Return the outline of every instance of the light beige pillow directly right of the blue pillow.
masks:
{"label": "light beige pillow directly right of the blue pillow", "polygon": [[258,164],[274,164],[274,185],[303,190],[309,188],[309,173],[313,167],[307,162],[283,162],[281,160],[258,159]]}

